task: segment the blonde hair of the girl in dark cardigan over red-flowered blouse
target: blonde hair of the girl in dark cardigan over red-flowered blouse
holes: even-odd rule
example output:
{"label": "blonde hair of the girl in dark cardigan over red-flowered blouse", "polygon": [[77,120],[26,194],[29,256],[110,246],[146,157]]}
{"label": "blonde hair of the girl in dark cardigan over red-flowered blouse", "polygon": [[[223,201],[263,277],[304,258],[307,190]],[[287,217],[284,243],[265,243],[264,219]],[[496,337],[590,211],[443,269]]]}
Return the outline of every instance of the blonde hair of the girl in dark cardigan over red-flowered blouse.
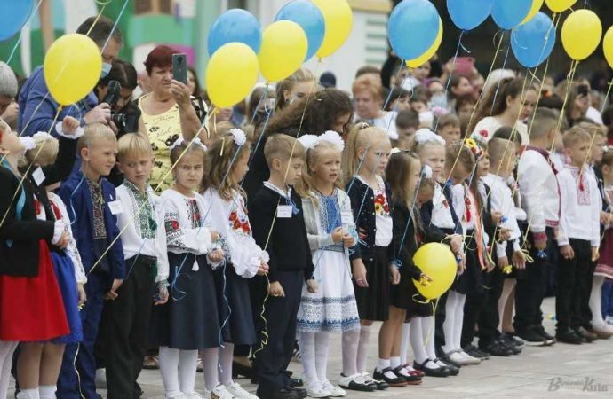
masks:
{"label": "blonde hair of the girl in dark cardigan over red-flowered blouse", "polygon": [[349,131],[342,160],[345,184],[349,183],[360,167],[358,149],[363,148],[366,153],[371,144],[378,140],[389,140],[389,138],[385,131],[369,126],[368,123],[358,123]]}

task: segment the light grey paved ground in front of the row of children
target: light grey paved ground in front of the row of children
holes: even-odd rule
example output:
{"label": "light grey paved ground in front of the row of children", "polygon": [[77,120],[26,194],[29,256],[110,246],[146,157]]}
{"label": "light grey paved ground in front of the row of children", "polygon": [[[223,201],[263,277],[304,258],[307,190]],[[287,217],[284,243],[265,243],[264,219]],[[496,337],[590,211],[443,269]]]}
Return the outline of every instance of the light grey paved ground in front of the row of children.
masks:
{"label": "light grey paved ground in front of the row of children", "polygon": [[[545,314],[552,314],[553,299],[546,299]],[[376,326],[378,328],[378,325]],[[545,328],[553,332],[553,321],[547,320]],[[376,335],[372,336],[370,364],[377,359]],[[340,341],[330,342],[330,379],[340,371]],[[371,367],[372,368],[372,367]],[[298,363],[291,370],[300,372]],[[244,387],[255,391],[255,386]],[[162,399],[162,379],[158,371],[146,371],[140,379],[148,399]],[[197,387],[203,387],[199,374]],[[105,392],[100,391],[105,397]],[[493,357],[482,364],[465,366],[457,377],[426,378],[418,387],[390,388],[371,394],[350,393],[348,398],[543,398],[543,397],[613,397],[613,339],[598,340],[592,344],[571,346],[555,344],[548,348],[525,348],[519,356]],[[12,397],[12,395],[10,396]]]}

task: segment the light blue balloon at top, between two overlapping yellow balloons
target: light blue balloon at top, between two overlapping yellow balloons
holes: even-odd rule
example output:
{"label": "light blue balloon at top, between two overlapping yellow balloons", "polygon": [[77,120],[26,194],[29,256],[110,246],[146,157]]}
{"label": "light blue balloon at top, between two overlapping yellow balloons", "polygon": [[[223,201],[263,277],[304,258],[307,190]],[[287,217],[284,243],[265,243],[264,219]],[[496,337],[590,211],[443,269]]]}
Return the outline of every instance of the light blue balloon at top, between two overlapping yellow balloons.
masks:
{"label": "light blue balloon at top, between two overlapping yellow balloons", "polygon": [[310,1],[294,0],[283,5],[276,14],[275,21],[277,20],[291,20],[304,29],[308,40],[305,61],[313,57],[322,46],[323,36],[326,34],[326,22],[319,8]]}

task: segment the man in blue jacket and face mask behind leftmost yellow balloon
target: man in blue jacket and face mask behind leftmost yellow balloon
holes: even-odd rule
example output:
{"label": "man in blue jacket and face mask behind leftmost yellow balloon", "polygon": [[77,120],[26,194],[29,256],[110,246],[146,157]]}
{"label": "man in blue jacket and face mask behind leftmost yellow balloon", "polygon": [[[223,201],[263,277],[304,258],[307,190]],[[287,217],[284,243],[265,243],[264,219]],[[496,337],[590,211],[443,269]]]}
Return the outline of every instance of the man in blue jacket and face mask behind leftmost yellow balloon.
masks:
{"label": "man in blue jacket and face mask behind leftmost yellow balloon", "polygon": [[[113,60],[122,48],[123,38],[119,29],[114,29],[114,22],[100,16],[88,18],[76,29],[76,33],[88,35],[100,48],[102,54],[102,74],[100,78],[107,76],[111,70]],[[106,43],[106,46],[105,46]],[[38,66],[21,88],[19,95],[20,115],[17,127],[21,134],[32,136],[38,131],[49,131],[56,135],[52,129],[55,115],[60,105],[49,93],[47,84],[44,82],[43,66]],[[109,125],[111,119],[111,107],[108,104],[98,102],[95,92],[92,90],[87,97],[72,106],[65,106],[57,118],[62,121],[65,116],[73,116],[81,121],[81,125],[103,123]],[[113,125],[111,127],[114,128]]]}

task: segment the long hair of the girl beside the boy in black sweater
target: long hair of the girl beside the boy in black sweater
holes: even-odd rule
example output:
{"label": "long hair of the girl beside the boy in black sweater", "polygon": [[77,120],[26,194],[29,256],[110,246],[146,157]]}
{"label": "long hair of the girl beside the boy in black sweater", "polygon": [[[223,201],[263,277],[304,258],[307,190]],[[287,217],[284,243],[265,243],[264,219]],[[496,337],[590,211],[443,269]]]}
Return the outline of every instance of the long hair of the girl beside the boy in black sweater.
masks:
{"label": "long hair of the girl beside the boy in black sweater", "polygon": [[250,149],[250,141],[239,147],[235,145],[234,136],[231,134],[217,138],[209,147],[209,156],[207,157],[209,178],[203,179],[203,191],[214,188],[219,192],[222,199],[232,200],[234,190],[240,192],[246,198],[246,193],[243,191],[240,182],[235,180],[232,172],[235,170],[238,160],[245,154],[249,154]]}

